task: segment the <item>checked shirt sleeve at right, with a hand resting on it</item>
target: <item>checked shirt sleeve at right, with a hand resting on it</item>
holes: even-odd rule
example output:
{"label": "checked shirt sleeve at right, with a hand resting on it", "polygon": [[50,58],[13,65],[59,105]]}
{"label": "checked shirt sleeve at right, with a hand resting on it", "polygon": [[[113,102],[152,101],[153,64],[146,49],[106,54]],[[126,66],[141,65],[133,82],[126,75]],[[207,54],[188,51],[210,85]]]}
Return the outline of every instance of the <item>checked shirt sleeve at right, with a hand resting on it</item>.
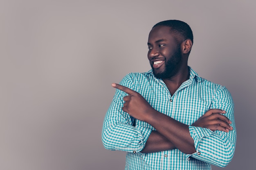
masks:
{"label": "checked shirt sleeve at right, with a hand resting on it", "polygon": [[[231,161],[236,145],[236,127],[234,121],[234,102],[225,87],[219,87],[214,94],[210,109],[225,110],[225,116],[231,120],[232,131],[211,131],[207,128],[189,126],[194,139],[196,153],[186,155],[215,166],[225,167]],[[189,160],[189,159],[187,159]]]}

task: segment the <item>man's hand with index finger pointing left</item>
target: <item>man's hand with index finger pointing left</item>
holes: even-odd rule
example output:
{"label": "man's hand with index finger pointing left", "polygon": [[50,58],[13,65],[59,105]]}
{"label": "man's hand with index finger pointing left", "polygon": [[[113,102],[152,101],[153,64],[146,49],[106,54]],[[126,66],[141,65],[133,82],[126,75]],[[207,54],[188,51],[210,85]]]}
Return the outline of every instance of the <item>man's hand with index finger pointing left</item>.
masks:
{"label": "man's hand with index finger pointing left", "polygon": [[112,87],[115,87],[123,92],[126,92],[128,96],[124,96],[124,107],[122,110],[127,112],[135,119],[146,121],[148,113],[156,111],[139,93],[124,87],[122,85],[112,83]]}

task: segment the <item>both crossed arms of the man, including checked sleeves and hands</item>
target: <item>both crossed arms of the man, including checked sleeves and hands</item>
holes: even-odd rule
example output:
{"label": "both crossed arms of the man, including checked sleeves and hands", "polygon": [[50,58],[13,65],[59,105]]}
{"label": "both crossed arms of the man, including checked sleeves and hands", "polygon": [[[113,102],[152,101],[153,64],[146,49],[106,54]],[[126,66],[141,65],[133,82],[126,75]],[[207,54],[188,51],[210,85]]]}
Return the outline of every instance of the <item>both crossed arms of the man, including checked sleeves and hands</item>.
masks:
{"label": "both crossed arms of the man, including checked sleeves and hands", "polygon": [[[220,109],[210,109],[188,126],[153,109],[139,93],[121,85],[112,86],[123,92],[117,91],[105,117],[102,131],[105,148],[136,151],[136,154],[177,148],[188,153],[186,158],[220,167],[231,161],[236,143],[234,103],[225,87],[216,89],[211,103],[211,108]],[[146,126],[132,126],[132,117],[147,122],[156,131]]]}

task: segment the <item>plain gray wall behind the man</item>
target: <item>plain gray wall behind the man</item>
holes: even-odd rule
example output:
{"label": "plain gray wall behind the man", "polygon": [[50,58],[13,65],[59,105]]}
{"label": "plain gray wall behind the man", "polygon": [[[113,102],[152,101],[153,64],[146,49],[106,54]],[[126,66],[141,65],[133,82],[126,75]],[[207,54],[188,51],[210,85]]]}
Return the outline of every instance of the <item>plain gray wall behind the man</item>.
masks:
{"label": "plain gray wall behind the man", "polygon": [[125,153],[101,144],[111,83],[150,69],[148,33],[168,19],[193,30],[189,65],[234,97],[238,138],[225,169],[253,169],[255,6],[254,0],[1,0],[0,169],[124,169]]}

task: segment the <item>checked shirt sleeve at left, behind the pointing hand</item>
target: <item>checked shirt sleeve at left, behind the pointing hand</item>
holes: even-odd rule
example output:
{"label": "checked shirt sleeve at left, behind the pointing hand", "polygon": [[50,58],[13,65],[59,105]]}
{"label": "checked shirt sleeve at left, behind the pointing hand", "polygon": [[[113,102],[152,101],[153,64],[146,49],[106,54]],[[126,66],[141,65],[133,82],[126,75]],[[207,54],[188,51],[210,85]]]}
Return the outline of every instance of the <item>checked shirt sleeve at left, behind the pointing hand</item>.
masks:
{"label": "checked shirt sleeve at left, behind the pointing hand", "polygon": [[[133,88],[133,80],[129,75],[124,77],[120,84],[136,90]],[[101,137],[103,146],[110,150],[139,153],[146,145],[152,130],[132,126],[135,119],[122,110],[124,96],[127,94],[117,89],[106,113]]]}

